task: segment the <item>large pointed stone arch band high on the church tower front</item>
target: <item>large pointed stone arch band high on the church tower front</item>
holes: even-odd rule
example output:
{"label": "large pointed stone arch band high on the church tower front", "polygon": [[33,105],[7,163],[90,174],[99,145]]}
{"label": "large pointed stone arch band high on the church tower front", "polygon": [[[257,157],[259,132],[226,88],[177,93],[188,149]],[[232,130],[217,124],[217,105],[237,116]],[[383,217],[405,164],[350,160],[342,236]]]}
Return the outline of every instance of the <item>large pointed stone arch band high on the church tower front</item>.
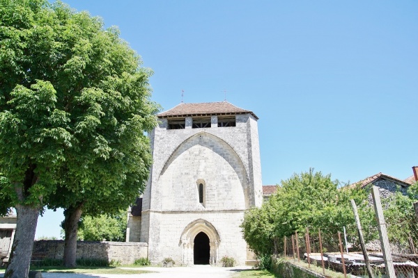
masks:
{"label": "large pointed stone arch band high on the church tower front", "polygon": [[[222,157],[222,159],[224,159],[224,161],[229,164],[231,169],[237,175],[240,185],[242,186],[242,191],[245,199],[243,202],[245,203],[245,207],[249,208],[249,175],[244,163],[242,163],[242,159],[237,154],[237,152],[235,152],[233,147],[231,147],[231,145],[229,145],[225,140],[222,140],[222,138],[219,138],[206,131],[196,133],[178,145],[178,147],[171,153],[167,161],[165,161],[164,166],[158,175],[157,181],[160,182],[160,180],[162,180],[162,177],[164,177],[164,174],[167,172],[167,170],[169,170],[169,167],[174,164],[180,156],[185,154],[185,152],[188,152],[189,149],[192,149],[196,146],[210,149],[212,152],[217,154],[217,156]],[[196,178],[205,179],[205,177]]]}

